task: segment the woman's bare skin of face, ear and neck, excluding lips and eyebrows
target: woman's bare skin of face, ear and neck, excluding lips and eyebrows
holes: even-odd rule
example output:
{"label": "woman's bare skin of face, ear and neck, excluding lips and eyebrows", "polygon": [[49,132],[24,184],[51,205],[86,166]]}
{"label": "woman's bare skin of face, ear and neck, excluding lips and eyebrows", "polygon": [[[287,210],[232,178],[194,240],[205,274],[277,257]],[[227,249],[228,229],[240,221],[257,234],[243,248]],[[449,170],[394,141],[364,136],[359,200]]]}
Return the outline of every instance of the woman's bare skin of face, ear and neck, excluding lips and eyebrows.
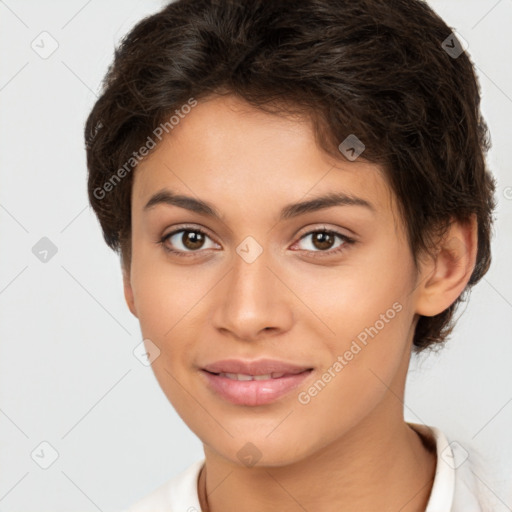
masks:
{"label": "woman's bare skin of face, ear and neck, excluding lips and eyebrows", "polygon": [[[221,220],[174,205],[144,211],[163,188],[208,201]],[[343,205],[278,220],[285,205],[332,191],[375,211]],[[203,246],[184,245],[183,233],[167,240],[190,257],[158,243],[183,223],[208,234]],[[315,244],[311,232],[324,226],[355,243],[328,254],[342,240]],[[263,249],[252,263],[236,252],[247,236]],[[203,443],[203,511],[425,509],[436,457],[403,418],[412,337],[418,315],[443,311],[463,291],[476,236],[474,219],[453,223],[416,269],[381,169],[329,156],[309,121],[233,96],[202,100],[180,121],[135,172],[124,291],[143,337],[161,351],[152,364],[161,388]],[[298,393],[395,302],[400,312],[301,404]],[[257,407],[226,402],[199,370],[263,357],[315,370],[300,389]],[[237,456],[248,442],[261,454],[252,467]]]}

